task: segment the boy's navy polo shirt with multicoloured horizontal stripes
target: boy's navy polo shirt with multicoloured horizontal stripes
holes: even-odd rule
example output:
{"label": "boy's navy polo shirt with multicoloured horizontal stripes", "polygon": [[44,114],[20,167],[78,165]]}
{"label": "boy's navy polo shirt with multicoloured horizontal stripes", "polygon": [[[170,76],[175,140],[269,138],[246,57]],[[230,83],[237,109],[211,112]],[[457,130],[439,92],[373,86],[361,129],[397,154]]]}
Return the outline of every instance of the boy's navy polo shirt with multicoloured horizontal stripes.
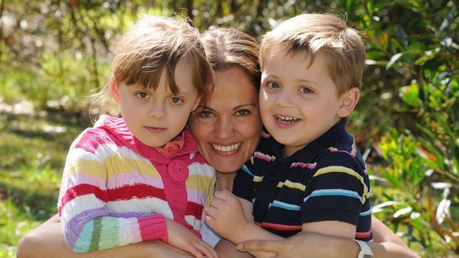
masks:
{"label": "boy's navy polo shirt with multicoloured horizontal stripes", "polygon": [[369,176],[345,120],[292,156],[282,150],[262,137],[234,179],[234,195],[254,204],[258,226],[287,238],[302,223],[342,221],[357,226],[356,239],[372,240]]}

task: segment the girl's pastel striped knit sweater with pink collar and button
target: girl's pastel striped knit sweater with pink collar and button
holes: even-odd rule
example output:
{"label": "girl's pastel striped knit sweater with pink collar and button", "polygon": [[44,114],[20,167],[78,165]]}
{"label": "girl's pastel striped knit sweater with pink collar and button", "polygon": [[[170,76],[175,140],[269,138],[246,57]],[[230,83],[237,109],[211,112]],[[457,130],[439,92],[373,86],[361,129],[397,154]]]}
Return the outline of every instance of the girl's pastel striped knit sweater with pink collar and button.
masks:
{"label": "girl's pastel striped knit sweater with pink collar and button", "polygon": [[181,136],[184,146],[169,158],[133,137],[122,118],[101,116],[77,137],[57,204],[71,250],[167,242],[165,218],[200,235],[215,170],[198,153],[189,130]]}

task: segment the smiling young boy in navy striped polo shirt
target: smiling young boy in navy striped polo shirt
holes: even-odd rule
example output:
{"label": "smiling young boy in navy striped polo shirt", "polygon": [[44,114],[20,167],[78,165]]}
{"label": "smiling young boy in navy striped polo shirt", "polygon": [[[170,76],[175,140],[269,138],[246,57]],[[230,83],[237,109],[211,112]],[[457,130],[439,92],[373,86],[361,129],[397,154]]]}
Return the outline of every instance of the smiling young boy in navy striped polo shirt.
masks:
{"label": "smiling young boy in navy striped polo shirt", "polygon": [[345,129],[362,85],[362,38],[337,16],[303,14],[263,37],[260,62],[272,137],[234,180],[247,219],[234,195],[215,192],[206,222],[235,244],[301,231],[371,240],[369,177]]}

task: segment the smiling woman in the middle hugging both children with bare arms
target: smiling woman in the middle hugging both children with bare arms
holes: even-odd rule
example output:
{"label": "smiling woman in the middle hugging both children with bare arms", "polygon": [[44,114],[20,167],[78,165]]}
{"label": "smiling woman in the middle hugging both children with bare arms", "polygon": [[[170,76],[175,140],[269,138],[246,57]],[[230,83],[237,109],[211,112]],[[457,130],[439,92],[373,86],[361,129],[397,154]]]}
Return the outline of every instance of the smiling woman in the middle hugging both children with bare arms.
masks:
{"label": "smiling woman in the middle hugging both children with bare arms", "polygon": [[[261,134],[258,113],[258,44],[234,29],[216,29],[202,36],[205,52],[215,70],[215,89],[205,107],[198,108],[189,122],[198,148],[217,174],[217,190],[232,190],[236,172],[256,148]],[[386,226],[373,219],[375,257],[417,257]],[[323,243],[327,242],[327,248]],[[360,247],[346,238],[308,233],[283,242],[243,245],[247,250],[267,251],[278,257],[357,257]],[[225,245],[225,242],[222,242]],[[218,248],[218,247],[216,247]],[[242,255],[244,253],[241,253]],[[160,240],[139,242],[86,254],[68,250],[59,217],[35,228],[22,238],[17,257],[192,257]],[[220,257],[225,254],[220,253]]]}

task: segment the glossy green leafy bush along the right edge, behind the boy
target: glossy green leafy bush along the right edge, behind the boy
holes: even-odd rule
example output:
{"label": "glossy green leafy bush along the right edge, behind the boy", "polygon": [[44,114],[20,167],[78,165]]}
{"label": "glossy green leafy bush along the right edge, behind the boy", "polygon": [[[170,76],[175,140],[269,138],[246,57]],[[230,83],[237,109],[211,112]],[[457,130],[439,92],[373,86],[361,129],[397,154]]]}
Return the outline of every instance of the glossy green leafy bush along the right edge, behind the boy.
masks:
{"label": "glossy green leafy bush along the right edge, behind the boy", "polygon": [[418,18],[407,27],[393,26],[396,33],[384,47],[395,53],[386,70],[406,77],[393,94],[400,101],[394,111],[406,121],[394,124],[378,145],[387,162],[378,171],[399,191],[374,211],[392,214],[391,223],[410,228],[411,240],[422,245],[426,257],[446,255],[434,251],[438,242],[459,254],[457,6],[400,2]]}

